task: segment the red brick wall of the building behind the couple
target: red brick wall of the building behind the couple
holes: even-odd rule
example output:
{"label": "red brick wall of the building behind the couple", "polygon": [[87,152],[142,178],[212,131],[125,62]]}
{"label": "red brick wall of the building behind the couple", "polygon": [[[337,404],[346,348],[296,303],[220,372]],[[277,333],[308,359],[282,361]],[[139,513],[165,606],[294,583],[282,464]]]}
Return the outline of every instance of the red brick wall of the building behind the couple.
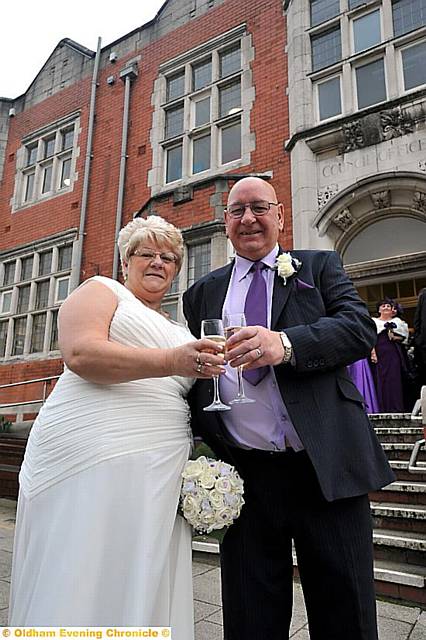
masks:
{"label": "red brick wall of the building behind the couple", "polygon": [[[112,273],[115,211],[120,169],[120,147],[124,83],[118,79],[124,63],[136,56],[138,78],[132,83],[125,182],[123,224],[151,196],[147,186],[151,169],[150,130],[153,107],[151,95],[161,63],[214,38],[245,22],[252,36],[255,58],[251,63],[256,99],[251,111],[250,132],[256,146],[251,165],[238,173],[273,171],[273,183],[285,204],[287,216],[283,244],[292,246],[290,166],[284,152],[288,138],[288,106],[286,98],[287,63],[284,53],[285,18],[282,2],[271,0],[226,0],[199,18],[188,21],[163,38],[135,49],[114,65],[105,62],[98,78],[96,122],[93,140],[93,160],[84,239],[82,279],[96,273]],[[72,34],[70,34],[72,37]],[[82,43],[84,44],[84,43]],[[106,79],[116,76],[110,85]],[[56,93],[43,102],[18,113],[10,122],[5,151],[3,181],[0,184],[0,250],[44,236],[78,227],[84,162],[86,156],[87,123],[91,89],[90,75]],[[10,199],[15,179],[16,151],[23,136],[42,125],[54,122],[75,110],[81,110],[82,131],[79,136],[80,156],[77,161],[78,181],[72,193],[11,213]],[[155,203],[155,211],[181,228],[213,219],[210,197],[214,186],[194,189],[190,202],[173,205],[172,196]],[[224,195],[224,204],[225,204]],[[0,365],[1,382],[54,375],[60,372],[61,361],[32,361]],[[28,391],[29,393],[29,391]],[[22,395],[22,394],[21,394]],[[24,393],[25,399],[27,392]]]}

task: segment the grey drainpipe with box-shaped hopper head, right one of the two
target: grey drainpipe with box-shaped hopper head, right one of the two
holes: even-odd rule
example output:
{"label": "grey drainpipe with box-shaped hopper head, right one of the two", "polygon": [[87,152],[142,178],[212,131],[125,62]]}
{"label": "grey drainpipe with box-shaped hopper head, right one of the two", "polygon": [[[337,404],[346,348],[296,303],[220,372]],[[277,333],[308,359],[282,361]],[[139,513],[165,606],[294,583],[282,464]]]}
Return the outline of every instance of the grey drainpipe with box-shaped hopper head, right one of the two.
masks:
{"label": "grey drainpipe with box-shaped hopper head, right one of the two", "polygon": [[121,129],[121,154],[120,154],[120,176],[118,179],[117,209],[115,214],[115,235],[114,235],[114,258],[112,263],[112,277],[118,278],[119,251],[117,246],[118,234],[121,229],[124,202],[124,184],[126,180],[127,161],[127,133],[129,128],[130,109],[130,85],[132,80],[138,77],[138,65],[133,62],[120,71],[120,78],[124,82],[124,104],[123,104],[123,126]]}

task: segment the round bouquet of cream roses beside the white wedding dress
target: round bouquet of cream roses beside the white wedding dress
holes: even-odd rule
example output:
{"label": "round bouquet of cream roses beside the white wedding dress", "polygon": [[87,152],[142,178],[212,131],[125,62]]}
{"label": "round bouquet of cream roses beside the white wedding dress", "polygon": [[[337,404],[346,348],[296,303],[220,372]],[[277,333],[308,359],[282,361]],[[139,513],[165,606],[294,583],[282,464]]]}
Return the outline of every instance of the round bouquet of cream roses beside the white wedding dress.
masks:
{"label": "round bouquet of cream roses beside the white wedding dress", "polygon": [[243,481],[230,464],[200,456],[182,471],[180,506],[198,533],[229,527],[244,504]]}

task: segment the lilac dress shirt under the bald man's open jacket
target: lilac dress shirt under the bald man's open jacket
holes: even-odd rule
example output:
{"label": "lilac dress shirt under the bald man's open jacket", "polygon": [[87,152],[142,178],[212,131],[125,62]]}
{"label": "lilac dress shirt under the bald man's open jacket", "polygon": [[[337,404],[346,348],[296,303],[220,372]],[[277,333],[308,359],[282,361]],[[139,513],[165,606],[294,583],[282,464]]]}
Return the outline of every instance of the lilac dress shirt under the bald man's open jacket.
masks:
{"label": "lilac dress shirt under the bald man's open jacket", "polygon": [[[262,258],[269,269],[262,271],[266,279],[268,299],[268,327],[271,325],[272,291],[274,286],[273,267],[278,246]],[[223,317],[226,313],[241,313],[253,277],[250,272],[253,262],[237,256],[229,281],[228,291],[223,305]],[[220,395],[228,403],[237,394],[237,372],[230,366],[220,376]],[[253,386],[244,380],[246,395],[255,404],[234,404],[231,411],[223,411],[221,418],[232,438],[242,448],[264,449],[267,451],[285,450],[286,443],[295,451],[303,449],[299,436],[290,420],[281,398],[273,367],[258,385]]]}

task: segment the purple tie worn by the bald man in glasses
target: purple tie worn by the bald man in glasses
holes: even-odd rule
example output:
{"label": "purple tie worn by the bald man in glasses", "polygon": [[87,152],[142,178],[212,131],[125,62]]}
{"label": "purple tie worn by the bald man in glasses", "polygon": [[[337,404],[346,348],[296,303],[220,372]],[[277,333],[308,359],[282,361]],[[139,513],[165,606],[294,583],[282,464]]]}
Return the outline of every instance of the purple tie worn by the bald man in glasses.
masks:
{"label": "purple tie worn by the bald man in glasses", "polygon": [[[266,282],[262,275],[263,269],[267,266],[260,260],[253,263],[250,271],[253,272],[253,278],[247,291],[244,313],[246,316],[247,326],[261,325],[267,327],[267,300],[266,300]],[[269,371],[269,367],[259,367],[251,371],[243,371],[243,377],[250,384],[257,385]]]}

